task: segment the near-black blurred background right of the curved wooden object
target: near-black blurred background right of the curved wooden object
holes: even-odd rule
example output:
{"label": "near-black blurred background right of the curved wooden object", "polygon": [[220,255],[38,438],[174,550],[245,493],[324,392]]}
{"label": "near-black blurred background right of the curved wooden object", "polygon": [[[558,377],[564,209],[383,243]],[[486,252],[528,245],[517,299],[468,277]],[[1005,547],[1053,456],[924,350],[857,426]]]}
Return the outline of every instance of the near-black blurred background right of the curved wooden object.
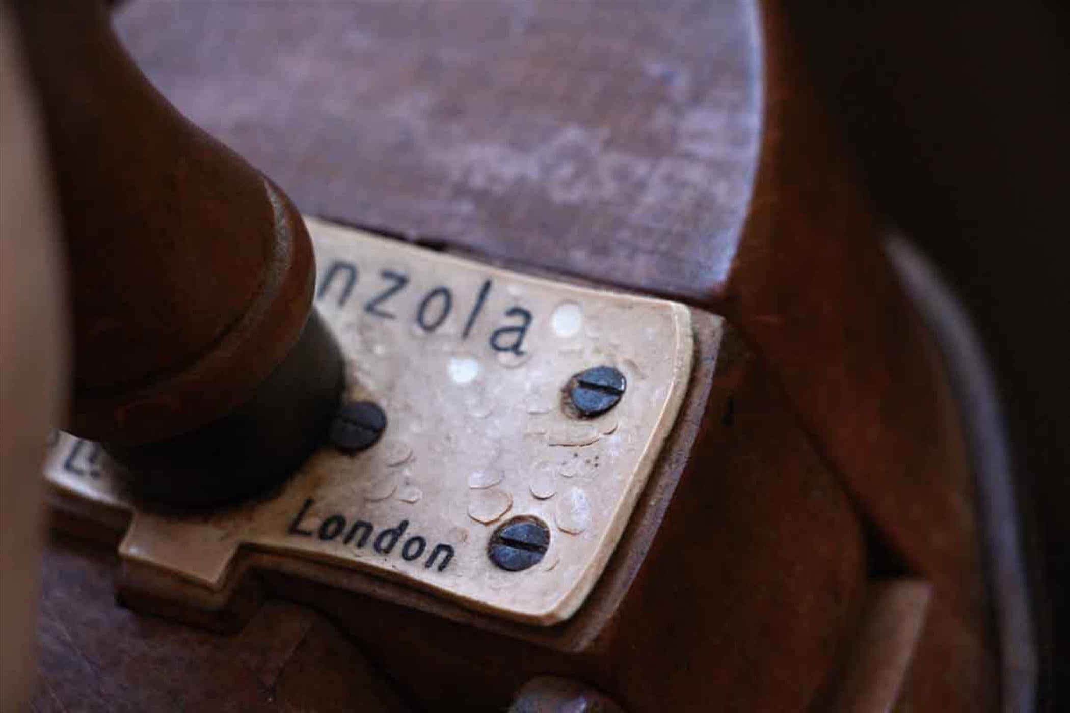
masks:
{"label": "near-black blurred background right of the curved wooden object", "polygon": [[789,9],[875,207],[935,260],[989,352],[1046,604],[1041,697],[1058,710],[1070,681],[1070,14],[1028,2]]}

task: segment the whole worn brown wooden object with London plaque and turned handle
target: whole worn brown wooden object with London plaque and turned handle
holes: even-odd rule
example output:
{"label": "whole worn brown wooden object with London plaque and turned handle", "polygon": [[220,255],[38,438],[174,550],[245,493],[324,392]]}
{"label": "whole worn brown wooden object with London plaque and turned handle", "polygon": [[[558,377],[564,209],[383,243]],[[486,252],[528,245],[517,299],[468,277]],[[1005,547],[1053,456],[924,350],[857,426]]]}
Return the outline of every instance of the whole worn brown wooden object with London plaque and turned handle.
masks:
{"label": "whole worn brown wooden object with London plaque and turned handle", "polygon": [[510,7],[121,11],[303,217],[107,7],[15,4],[73,355],[34,706],[1010,710],[938,295],[775,3]]}

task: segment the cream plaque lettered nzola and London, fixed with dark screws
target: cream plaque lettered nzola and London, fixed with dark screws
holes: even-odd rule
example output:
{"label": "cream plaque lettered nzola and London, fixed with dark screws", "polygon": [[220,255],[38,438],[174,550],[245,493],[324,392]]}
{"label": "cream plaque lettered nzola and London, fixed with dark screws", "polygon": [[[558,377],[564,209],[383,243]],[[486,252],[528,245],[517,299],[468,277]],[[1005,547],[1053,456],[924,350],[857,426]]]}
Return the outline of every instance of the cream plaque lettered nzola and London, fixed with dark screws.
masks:
{"label": "cream plaque lettered nzola and London, fixed with dark screws", "polygon": [[[690,313],[307,219],[317,306],[348,359],[352,398],[386,412],[367,451],[324,448],[273,499],[211,517],[141,512],[95,444],[61,435],[46,477],[132,511],[122,557],[219,590],[242,547],[403,580],[476,609],[550,625],[598,578],[672,427],[690,373]],[[563,409],[584,369],[617,368],[617,405]],[[513,517],[542,521],[542,560],[488,558]]]}

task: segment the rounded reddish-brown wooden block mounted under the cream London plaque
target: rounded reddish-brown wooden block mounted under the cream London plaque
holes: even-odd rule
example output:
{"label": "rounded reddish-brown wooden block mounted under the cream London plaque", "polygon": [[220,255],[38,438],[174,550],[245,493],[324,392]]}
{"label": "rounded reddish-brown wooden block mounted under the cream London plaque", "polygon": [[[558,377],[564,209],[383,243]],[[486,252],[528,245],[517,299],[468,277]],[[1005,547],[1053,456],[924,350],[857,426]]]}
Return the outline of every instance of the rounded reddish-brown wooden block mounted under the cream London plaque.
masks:
{"label": "rounded reddish-brown wooden block mounted under the cream London plaque", "polygon": [[[428,710],[503,710],[539,676],[584,682],[630,711],[716,700],[801,710],[840,675],[865,621],[873,590],[861,528],[738,337],[708,314],[692,320],[694,370],[679,416],[606,571],[566,622],[510,622],[367,573],[255,551],[215,599],[177,606],[173,583],[131,565],[121,598],[213,629],[233,629],[259,598],[304,604]],[[58,524],[92,522],[72,515]],[[110,530],[112,546],[122,531]],[[889,661],[905,665],[904,652],[889,649]],[[867,691],[870,678],[856,687]]]}

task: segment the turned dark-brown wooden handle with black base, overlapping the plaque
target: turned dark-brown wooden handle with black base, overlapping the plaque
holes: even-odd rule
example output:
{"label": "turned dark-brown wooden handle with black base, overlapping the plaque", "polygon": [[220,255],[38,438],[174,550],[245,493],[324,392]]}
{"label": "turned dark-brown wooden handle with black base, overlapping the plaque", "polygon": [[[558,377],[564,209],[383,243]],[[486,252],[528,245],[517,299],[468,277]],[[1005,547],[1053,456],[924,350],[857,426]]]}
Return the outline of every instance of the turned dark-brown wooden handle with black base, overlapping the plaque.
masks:
{"label": "turned dark-brown wooden handle with black base, overlapping the plaque", "polygon": [[71,276],[67,429],[168,502],[278,482],[318,445],[342,385],[301,216],[150,84],[103,3],[17,9]]}

